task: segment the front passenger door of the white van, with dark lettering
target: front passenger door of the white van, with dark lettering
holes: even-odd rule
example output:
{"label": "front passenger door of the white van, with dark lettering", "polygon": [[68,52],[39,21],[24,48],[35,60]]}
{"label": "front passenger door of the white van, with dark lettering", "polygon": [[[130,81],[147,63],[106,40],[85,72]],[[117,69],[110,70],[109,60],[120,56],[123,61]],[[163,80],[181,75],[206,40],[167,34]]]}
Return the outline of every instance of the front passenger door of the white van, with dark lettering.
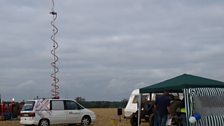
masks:
{"label": "front passenger door of the white van, with dark lettering", "polygon": [[65,111],[67,115],[68,123],[81,123],[82,113],[81,106],[79,106],[75,101],[65,100]]}

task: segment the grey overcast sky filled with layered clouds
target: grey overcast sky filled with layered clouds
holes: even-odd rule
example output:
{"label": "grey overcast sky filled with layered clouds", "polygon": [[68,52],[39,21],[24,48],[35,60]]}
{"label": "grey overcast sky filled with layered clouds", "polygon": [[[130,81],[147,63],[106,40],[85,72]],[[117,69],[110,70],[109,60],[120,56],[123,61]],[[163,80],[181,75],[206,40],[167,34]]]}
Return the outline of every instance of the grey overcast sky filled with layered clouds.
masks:
{"label": "grey overcast sky filled with layered clouds", "polygon": [[[3,100],[51,97],[51,0],[0,0]],[[60,97],[122,100],[188,73],[224,81],[223,0],[55,0]]]}

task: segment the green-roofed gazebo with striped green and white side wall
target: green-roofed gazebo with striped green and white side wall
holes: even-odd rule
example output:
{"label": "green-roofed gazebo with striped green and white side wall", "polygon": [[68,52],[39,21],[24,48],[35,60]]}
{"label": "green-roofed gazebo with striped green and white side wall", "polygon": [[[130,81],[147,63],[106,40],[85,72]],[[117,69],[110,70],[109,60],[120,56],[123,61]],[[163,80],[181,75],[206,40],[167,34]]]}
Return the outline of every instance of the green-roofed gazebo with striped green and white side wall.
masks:
{"label": "green-roofed gazebo with striped green and white side wall", "polygon": [[[157,84],[140,88],[143,93],[183,93],[187,126],[224,125],[224,82],[183,74]],[[189,117],[199,113],[201,119],[192,124]]]}

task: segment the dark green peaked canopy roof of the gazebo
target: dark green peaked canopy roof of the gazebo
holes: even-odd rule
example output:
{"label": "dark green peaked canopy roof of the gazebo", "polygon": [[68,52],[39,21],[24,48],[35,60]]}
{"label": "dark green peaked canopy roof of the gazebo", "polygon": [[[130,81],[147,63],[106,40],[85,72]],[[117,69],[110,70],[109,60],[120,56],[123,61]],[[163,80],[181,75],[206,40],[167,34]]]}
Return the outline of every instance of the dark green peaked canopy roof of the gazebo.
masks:
{"label": "dark green peaked canopy roof of the gazebo", "polygon": [[183,74],[157,84],[140,88],[140,93],[160,93],[163,91],[183,92],[183,89],[186,88],[224,88],[224,82]]}

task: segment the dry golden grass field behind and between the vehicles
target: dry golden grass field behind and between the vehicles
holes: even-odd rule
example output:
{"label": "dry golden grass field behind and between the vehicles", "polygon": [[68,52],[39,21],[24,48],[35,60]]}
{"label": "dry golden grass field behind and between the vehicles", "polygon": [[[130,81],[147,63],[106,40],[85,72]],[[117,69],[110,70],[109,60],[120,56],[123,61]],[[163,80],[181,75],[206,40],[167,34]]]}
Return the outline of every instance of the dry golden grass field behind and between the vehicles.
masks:
{"label": "dry golden grass field behind and between the vehicles", "polygon": [[[97,119],[94,126],[131,126],[129,119],[121,118],[121,122],[117,125],[116,122],[119,122],[118,120],[113,121],[112,119],[118,119],[117,115],[117,109],[91,109],[96,113]],[[0,126],[21,126],[19,124],[18,120],[14,121],[0,121]],[[57,125],[57,126],[63,126],[63,125]],[[149,126],[148,122],[142,122],[141,126]]]}

